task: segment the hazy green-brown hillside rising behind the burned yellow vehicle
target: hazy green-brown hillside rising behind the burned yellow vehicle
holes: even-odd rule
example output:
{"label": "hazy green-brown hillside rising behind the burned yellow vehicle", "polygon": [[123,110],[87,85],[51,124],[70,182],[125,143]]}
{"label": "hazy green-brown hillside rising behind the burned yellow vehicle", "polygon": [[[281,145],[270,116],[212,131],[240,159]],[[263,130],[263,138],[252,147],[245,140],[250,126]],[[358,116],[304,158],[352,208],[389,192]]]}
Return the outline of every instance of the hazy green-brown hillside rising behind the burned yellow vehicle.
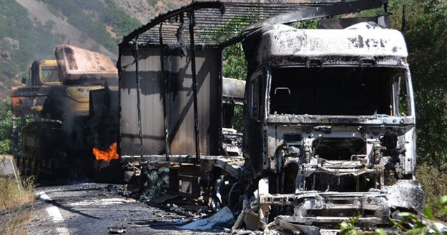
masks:
{"label": "hazy green-brown hillside rising behind the burned yellow vehicle", "polygon": [[[122,36],[154,15],[189,1],[15,0],[0,6],[0,101],[28,76],[36,59],[53,57],[61,43],[117,57]],[[24,17],[27,16],[27,17]]]}

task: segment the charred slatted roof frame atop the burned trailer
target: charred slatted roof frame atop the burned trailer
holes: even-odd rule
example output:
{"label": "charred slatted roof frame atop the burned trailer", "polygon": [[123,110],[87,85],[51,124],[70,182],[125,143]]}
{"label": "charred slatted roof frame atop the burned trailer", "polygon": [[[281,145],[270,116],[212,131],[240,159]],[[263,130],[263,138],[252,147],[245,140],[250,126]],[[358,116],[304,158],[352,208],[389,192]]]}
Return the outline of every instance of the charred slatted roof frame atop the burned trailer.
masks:
{"label": "charred slatted roof frame atop the burned trailer", "polygon": [[290,24],[301,20],[330,17],[344,13],[378,8],[388,0],[317,0],[293,3],[261,3],[243,1],[193,1],[189,5],[163,13],[124,36],[119,46],[132,41],[140,45],[165,45],[186,48],[190,43],[189,15],[194,15],[193,41],[196,45],[225,48],[242,41],[251,31],[265,24]]}

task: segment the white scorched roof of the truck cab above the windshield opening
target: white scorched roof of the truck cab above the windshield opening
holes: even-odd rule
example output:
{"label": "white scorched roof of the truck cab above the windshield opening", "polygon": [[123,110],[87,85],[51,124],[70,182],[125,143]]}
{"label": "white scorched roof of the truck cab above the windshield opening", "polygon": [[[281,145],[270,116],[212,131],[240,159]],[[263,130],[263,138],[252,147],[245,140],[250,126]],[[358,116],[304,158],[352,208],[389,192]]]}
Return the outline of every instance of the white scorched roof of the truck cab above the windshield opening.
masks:
{"label": "white scorched roof of the truck cab above the windshield opening", "polygon": [[354,24],[346,29],[295,29],[275,24],[254,31],[244,40],[251,63],[320,63],[371,61],[399,64],[408,56],[400,31],[383,29],[373,22]]}

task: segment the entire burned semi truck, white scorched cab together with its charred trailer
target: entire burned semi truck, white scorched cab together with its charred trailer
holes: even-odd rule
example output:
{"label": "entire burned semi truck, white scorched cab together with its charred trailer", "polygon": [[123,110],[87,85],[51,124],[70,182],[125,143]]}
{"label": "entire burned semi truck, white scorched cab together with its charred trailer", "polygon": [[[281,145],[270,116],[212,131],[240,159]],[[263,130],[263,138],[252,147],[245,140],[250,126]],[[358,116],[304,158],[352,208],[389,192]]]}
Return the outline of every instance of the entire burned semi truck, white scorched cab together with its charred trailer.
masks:
{"label": "entire burned semi truck, white scorched cab together with its charred trailer", "polygon": [[[356,216],[369,230],[420,213],[402,34],[386,13],[290,26],[386,3],[200,1],[156,17],[119,45],[120,159],[137,174],[170,168],[170,190],[229,206],[234,228],[321,234]],[[243,158],[222,137],[222,50],[240,41]]]}

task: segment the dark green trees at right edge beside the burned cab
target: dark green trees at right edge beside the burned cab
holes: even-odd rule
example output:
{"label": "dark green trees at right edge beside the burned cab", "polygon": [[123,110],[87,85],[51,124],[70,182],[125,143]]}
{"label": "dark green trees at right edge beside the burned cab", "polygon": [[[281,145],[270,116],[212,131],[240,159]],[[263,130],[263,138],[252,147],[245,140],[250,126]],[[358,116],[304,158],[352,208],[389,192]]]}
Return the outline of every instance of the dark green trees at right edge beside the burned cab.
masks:
{"label": "dark green trees at right edge beside the burned cab", "polygon": [[416,98],[418,156],[447,172],[447,2],[414,2],[404,36]]}

